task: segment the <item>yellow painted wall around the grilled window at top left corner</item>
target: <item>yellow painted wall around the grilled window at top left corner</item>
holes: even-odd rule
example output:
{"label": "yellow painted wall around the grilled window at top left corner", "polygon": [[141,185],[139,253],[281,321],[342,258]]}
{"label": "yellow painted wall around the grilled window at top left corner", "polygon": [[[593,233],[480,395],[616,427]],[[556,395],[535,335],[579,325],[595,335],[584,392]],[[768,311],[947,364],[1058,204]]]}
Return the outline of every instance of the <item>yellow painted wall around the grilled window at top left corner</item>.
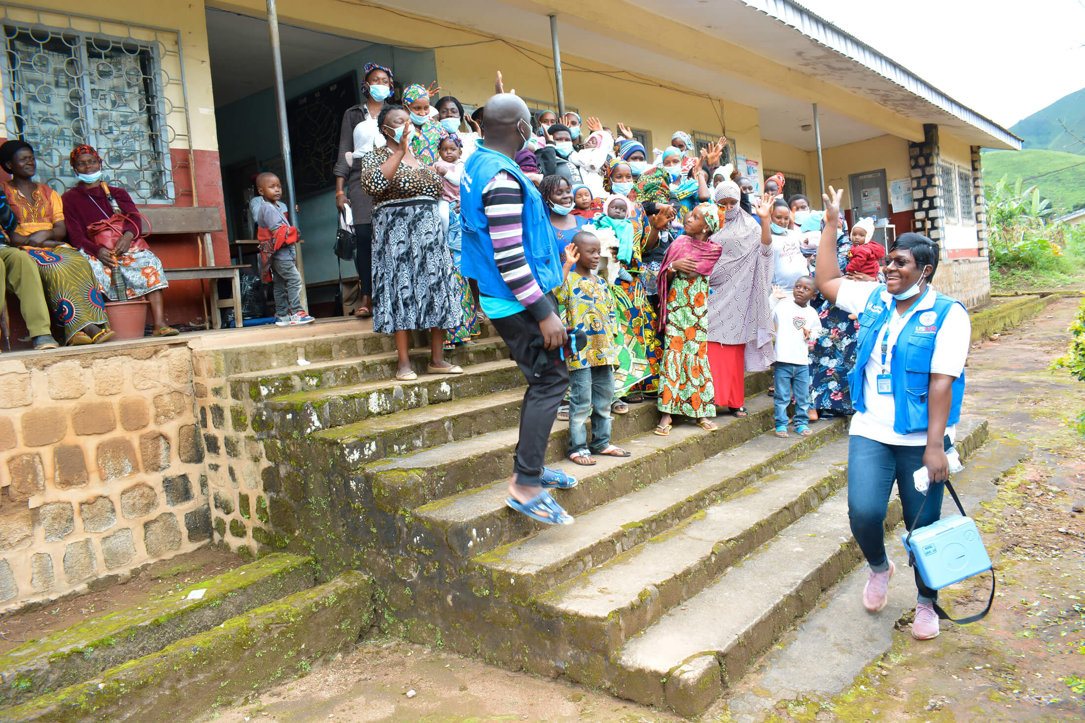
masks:
{"label": "yellow painted wall around the grilled window at top left corner", "polygon": [[[0,3],[3,4],[3,3]],[[35,11],[8,7],[8,16],[12,20],[25,20],[30,23],[67,28],[73,27],[88,33],[106,33],[113,36],[127,37],[129,27],[119,23],[102,23],[97,20],[138,23],[165,30],[176,30],[178,35],[166,36],[140,27],[131,27],[131,36],[138,40],[163,41],[169,50],[176,50],[180,42],[181,59],[184,64],[184,81],[188,90],[189,119],[184,117],[184,98],[180,83],[166,86],[166,95],[177,108],[167,122],[181,138],[175,139],[173,147],[188,147],[183,138],[188,134],[188,124],[192,125],[192,147],[201,151],[217,151],[218,139],[215,135],[215,104],[210,90],[210,65],[207,62],[207,24],[204,17],[202,0],[178,2],[174,0],[38,0],[34,3],[41,9],[41,16]],[[68,15],[67,13],[71,13]],[[71,17],[71,21],[69,21]],[[163,69],[171,78],[180,78],[181,68],[176,62],[176,55],[166,57]],[[203,111],[205,109],[205,111]],[[0,106],[0,118],[4,108]]]}

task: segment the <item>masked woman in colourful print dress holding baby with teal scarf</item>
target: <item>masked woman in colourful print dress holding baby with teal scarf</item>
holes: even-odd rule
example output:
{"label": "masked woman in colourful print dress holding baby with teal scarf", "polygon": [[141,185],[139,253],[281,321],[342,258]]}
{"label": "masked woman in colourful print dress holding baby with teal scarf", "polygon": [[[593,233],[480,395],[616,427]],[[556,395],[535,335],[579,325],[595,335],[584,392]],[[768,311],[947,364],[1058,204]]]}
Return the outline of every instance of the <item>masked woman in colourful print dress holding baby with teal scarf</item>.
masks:
{"label": "masked woman in colourful print dress holding baby with teal scarf", "polygon": [[[625,273],[618,275],[615,287],[618,325],[626,336],[629,349],[639,347],[648,362],[648,377],[633,387],[629,401],[643,401],[643,392],[655,393],[659,390],[660,341],[655,336],[655,309],[648,300],[640,274],[643,271],[641,256],[646,248],[655,245],[659,229],[647,223],[644,207],[638,203],[636,189],[633,184],[633,170],[629,164],[620,158],[612,158],[603,167],[603,188],[608,193],[623,195],[629,199],[628,219],[633,221],[633,248],[627,258],[620,258],[618,263]],[[662,216],[662,215],[661,215]],[[615,384],[615,389],[618,385]]]}

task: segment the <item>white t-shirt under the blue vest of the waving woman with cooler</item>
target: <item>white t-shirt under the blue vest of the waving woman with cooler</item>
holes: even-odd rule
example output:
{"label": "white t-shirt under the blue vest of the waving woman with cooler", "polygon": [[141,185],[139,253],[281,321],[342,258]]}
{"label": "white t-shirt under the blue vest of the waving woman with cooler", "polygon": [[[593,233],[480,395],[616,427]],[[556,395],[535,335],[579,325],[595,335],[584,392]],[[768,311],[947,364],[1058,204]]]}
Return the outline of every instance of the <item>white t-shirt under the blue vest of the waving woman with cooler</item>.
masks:
{"label": "white t-shirt under the blue vest of the waving woman with cooler", "polygon": [[[845,279],[840,284],[840,291],[837,292],[837,306],[848,313],[860,314],[867,308],[867,299],[877,287],[878,284],[875,282]],[[884,301],[888,302],[892,298],[889,292],[882,292]],[[892,367],[896,337],[901,335],[905,322],[916,313],[932,309],[934,298],[934,292],[928,292],[923,298],[908,309],[903,318],[896,313],[894,306],[893,315],[886,323],[889,326],[889,349],[885,353],[886,374],[890,373],[888,370]],[[920,321],[926,323],[926,320],[921,319]],[[881,339],[884,334],[885,326],[883,325],[878,330],[878,341],[875,344],[875,349],[870,353],[870,359],[867,361],[863,374],[863,399],[866,402],[867,411],[855,413],[852,417],[850,432],[883,444],[926,446],[926,431],[915,431],[910,435],[898,435],[893,431],[893,421],[896,417],[896,403],[893,400],[893,395],[878,393],[878,375],[882,373]],[[968,359],[968,347],[971,344],[971,338],[972,324],[969,322],[968,312],[965,311],[963,307],[955,304],[934,337],[931,374],[947,374],[954,377],[963,374],[965,360]],[[903,384],[903,380],[894,378],[893,384]],[[946,434],[949,435],[949,439],[955,439],[953,426],[946,427]]]}

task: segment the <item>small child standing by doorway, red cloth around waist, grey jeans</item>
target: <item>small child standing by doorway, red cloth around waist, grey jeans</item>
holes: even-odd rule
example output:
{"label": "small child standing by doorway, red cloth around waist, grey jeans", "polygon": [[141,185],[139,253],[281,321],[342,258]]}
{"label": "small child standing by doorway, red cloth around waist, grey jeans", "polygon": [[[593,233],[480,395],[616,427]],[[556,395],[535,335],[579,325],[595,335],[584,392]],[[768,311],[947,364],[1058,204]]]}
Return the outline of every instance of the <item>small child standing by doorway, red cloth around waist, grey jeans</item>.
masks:
{"label": "small child standing by doorway, red cloth around waist, grey jeans", "polygon": [[[256,192],[264,198],[256,211],[256,235],[261,242],[267,242],[270,253],[261,246],[261,267],[265,281],[270,271],[275,281],[275,315],[277,326],[293,326],[309,324],[316,321],[302,308],[302,274],[297,270],[297,249],[294,242],[297,232],[292,230],[286,214],[279,199],[282,198],[282,184],[275,173],[264,172],[256,177]],[[268,268],[270,267],[270,268]]]}

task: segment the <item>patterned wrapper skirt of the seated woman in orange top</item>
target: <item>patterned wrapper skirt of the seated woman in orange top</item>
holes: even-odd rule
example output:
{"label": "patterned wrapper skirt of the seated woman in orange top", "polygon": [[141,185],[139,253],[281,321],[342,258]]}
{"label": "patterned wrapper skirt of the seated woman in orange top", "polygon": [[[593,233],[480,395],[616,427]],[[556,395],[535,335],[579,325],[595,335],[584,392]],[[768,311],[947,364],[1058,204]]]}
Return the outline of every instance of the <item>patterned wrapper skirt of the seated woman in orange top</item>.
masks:
{"label": "patterned wrapper skirt of the seated woman in orange top", "polygon": [[38,264],[46,304],[64,327],[65,343],[87,324],[108,325],[102,289],[82,254],[71,246],[23,250]]}

